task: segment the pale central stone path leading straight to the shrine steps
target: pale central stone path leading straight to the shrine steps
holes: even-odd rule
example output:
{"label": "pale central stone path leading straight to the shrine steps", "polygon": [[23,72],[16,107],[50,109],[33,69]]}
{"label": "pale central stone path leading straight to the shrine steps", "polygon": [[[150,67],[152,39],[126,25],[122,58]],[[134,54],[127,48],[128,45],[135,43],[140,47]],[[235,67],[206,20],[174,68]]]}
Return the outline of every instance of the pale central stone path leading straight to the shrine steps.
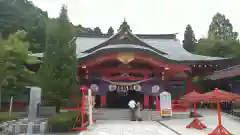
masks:
{"label": "pale central stone path leading straight to the shrine steps", "polygon": [[176,135],[173,131],[153,121],[98,122],[79,135]]}

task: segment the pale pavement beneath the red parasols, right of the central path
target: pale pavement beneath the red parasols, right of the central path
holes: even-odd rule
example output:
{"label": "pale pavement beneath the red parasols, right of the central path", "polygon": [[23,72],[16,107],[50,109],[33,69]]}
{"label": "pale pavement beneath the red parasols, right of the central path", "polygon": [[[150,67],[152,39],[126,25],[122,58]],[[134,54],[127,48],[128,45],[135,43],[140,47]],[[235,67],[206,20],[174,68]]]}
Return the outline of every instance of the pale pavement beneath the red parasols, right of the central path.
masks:
{"label": "pale pavement beneath the red parasols, right of the central path", "polygon": [[[204,124],[207,125],[207,129],[197,130],[197,129],[187,129],[188,125],[192,119],[175,119],[175,120],[166,120],[162,121],[165,125],[171,127],[175,131],[179,132],[182,135],[206,135],[211,133],[217,127],[217,112],[216,110],[200,110],[198,111],[202,116],[199,118]],[[229,114],[222,113],[222,125],[232,134],[240,135],[240,119],[231,116]]]}

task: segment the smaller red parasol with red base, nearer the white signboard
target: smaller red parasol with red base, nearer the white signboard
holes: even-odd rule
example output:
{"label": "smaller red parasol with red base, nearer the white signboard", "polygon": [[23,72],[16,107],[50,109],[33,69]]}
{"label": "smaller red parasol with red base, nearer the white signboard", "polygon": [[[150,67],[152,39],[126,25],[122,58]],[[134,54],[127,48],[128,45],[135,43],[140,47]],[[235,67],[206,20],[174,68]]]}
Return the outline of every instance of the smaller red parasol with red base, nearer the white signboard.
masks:
{"label": "smaller red parasol with red base, nearer the white signboard", "polygon": [[197,118],[197,105],[196,102],[199,102],[201,94],[193,91],[190,92],[186,95],[184,95],[181,100],[187,103],[193,103],[194,106],[194,119],[193,121],[186,126],[186,128],[196,128],[196,129],[204,129],[207,128],[207,126],[205,124],[203,124],[198,118]]}

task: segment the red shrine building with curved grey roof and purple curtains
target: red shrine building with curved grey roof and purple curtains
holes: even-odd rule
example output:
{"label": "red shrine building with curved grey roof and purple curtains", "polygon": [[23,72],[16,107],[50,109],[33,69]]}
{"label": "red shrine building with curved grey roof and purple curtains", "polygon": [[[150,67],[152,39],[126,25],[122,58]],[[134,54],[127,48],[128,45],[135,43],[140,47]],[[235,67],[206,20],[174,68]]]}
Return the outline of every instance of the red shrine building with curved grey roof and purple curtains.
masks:
{"label": "red shrine building with curved grey roof and purple curtains", "polygon": [[131,99],[157,107],[163,91],[173,100],[200,92],[192,77],[237,63],[189,53],[176,34],[134,34],[125,20],[114,35],[78,34],[72,43],[81,85],[92,89],[96,106],[108,108],[125,108]]}

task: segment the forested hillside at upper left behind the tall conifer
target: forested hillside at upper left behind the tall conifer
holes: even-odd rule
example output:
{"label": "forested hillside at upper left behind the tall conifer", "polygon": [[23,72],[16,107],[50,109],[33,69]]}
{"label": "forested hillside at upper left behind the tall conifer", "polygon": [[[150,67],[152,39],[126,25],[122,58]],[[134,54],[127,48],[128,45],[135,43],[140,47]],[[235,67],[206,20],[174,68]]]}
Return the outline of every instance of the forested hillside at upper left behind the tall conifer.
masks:
{"label": "forested hillside at upper left behind the tall conifer", "polygon": [[[27,0],[0,0],[0,31],[6,39],[9,34],[17,30],[27,32],[30,42],[30,51],[43,52],[46,43],[46,34],[56,24],[56,19],[50,18],[48,13],[33,5]],[[84,28],[81,25],[72,29],[77,33],[101,34],[101,29]]]}

